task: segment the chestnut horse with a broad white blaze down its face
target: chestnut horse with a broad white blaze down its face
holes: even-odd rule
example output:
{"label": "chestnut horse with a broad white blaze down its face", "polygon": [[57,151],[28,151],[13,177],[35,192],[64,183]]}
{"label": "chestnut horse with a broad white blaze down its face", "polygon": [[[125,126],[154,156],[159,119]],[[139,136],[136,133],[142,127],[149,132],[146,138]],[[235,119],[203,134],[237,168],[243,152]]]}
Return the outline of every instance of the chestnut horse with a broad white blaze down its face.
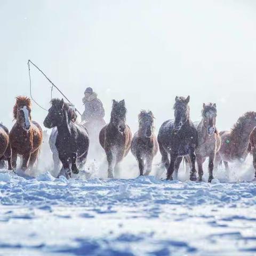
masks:
{"label": "chestnut horse with a broad white blaze down its face", "polygon": [[13,117],[16,120],[10,132],[12,147],[12,165],[17,167],[17,156],[22,157],[21,168],[25,171],[32,168],[36,162],[43,140],[41,126],[31,121],[31,101],[19,96],[13,107]]}

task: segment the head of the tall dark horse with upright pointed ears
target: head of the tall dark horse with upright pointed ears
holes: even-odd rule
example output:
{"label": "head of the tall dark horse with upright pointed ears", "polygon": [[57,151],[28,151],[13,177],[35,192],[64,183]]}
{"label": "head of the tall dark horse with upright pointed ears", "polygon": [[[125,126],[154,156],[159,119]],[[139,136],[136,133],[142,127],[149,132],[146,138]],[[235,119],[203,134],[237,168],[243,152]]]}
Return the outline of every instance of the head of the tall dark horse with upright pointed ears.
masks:
{"label": "head of the tall dark horse with upright pointed ears", "polygon": [[189,102],[190,97],[178,97],[175,98],[174,109],[174,130],[179,131],[183,124],[185,124],[189,119]]}

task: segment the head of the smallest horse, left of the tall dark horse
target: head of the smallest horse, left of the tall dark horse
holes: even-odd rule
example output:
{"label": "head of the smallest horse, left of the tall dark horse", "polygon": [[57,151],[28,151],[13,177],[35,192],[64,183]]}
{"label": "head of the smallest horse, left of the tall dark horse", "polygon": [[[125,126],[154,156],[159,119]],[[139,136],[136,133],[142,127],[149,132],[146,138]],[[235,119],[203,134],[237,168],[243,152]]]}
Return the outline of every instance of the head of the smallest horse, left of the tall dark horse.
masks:
{"label": "head of the smallest horse, left of the tall dark horse", "polygon": [[150,138],[154,130],[154,115],[151,111],[141,110],[139,116],[140,137]]}

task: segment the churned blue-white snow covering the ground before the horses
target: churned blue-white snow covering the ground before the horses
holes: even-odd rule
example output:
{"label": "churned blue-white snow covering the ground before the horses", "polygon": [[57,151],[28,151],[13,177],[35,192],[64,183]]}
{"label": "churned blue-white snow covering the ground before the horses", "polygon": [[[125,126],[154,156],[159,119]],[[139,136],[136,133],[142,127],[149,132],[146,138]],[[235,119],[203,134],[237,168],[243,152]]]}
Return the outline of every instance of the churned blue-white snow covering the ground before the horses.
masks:
{"label": "churned blue-white snow covering the ground before the horses", "polygon": [[255,182],[85,177],[2,170],[0,255],[256,253]]}

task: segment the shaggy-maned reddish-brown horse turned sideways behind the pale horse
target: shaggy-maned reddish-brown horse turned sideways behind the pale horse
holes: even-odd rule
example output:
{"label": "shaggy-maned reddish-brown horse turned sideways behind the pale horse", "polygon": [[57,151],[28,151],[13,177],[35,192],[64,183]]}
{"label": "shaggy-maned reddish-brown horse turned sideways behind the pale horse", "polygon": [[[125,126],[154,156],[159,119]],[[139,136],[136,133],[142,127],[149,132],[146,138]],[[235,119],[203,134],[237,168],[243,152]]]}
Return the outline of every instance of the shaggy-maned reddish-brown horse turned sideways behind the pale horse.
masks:
{"label": "shaggy-maned reddish-brown horse turned sideways behind the pale horse", "polygon": [[255,126],[256,112],[248,111],[238,118],[230,131],[221,131],[221,146],[214,166],[217,167],[223,161],[226,170],[229,171],[228,163],[244,162],[249,154],[250,134]]}

